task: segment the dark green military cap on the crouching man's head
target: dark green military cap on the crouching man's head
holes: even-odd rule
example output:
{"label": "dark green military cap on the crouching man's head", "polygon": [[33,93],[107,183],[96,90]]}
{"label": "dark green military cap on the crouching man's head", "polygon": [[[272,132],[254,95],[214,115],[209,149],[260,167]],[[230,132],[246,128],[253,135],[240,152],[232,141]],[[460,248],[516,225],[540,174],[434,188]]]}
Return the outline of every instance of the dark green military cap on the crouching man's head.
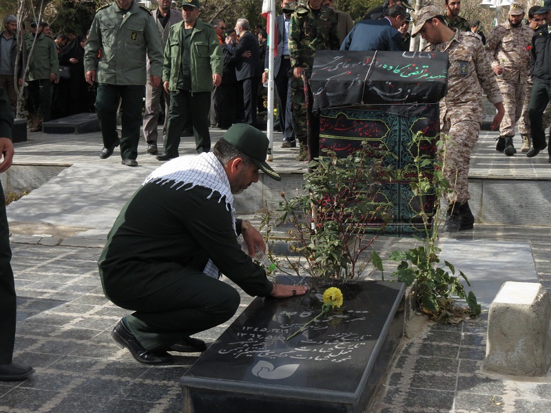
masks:
{"label": "dark green military cap on the crouching man's head", "polygon": [[281,180],[278,173],[266,163],[270,141],[256,127],[246,125],[245,123],[236,123],[226,131],[224,140],[249,156],[256,166],[262,169],[267,176],[275,180]]}

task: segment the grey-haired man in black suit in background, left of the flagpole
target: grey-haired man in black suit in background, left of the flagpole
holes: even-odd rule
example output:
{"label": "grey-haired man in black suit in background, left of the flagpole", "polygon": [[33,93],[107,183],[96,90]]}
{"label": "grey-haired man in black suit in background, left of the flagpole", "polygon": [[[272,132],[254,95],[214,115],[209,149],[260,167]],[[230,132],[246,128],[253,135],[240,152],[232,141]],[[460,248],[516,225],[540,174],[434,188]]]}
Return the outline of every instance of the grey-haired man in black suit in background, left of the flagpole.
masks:
{"label": "grey-haired man in black suit in background, left of the flagpole", "polygon": [[[249,32],[249,21],[238,19],[236,33],[239,43],[234,43],[231,38],[226,38],[229,50],[234,56],[239,56],[236,64],[236,77],[243,88],[244,118],[242,123],[256,125],[256,92],[260,81],[259,46],[256,36]],[[251,52],[250,57],[243,57],[244,52]]]}

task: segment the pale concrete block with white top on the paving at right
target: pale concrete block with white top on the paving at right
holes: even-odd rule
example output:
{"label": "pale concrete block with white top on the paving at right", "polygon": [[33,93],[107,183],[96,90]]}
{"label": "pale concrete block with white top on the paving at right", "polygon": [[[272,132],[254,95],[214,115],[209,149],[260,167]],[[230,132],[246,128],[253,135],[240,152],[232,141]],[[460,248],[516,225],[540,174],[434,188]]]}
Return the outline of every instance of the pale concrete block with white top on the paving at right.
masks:
{"label": "pale concrete block with white top on the paving at right", "polygon": [[543,376],[551,366],[551,303],[539,283],[506,282],[490,305],[484,369]]}

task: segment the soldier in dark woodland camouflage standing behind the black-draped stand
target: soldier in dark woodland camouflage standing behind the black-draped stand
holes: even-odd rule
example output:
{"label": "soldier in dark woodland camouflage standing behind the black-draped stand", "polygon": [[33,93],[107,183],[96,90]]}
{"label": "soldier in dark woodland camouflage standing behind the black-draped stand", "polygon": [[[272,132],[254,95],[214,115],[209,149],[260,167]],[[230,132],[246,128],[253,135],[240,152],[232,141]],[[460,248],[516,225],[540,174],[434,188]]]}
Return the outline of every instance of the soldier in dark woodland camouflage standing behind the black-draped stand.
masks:
{"label": "soldier in dark woodland camouflage standing behind the black-draped stand", "polygon": [[[291,106],[293,130],[301,147],[300,160],[305,160],[308,155],[306,95],[304,94],[302,76],[306,76],[309,81],[316,51],[339,50],[337,20],[337,12],[332,8],[322,6],[322,0],[309,0],[304,6],[297,6],[291,16],[289,27],[289,56],[291,56],[291,67],[293,68]],[[310,92],[309,95],[311,105]],[[311,109],[309,109],[309,114],[311,116]],[[313,125],[313,127],[316,126],[319,125]]]}

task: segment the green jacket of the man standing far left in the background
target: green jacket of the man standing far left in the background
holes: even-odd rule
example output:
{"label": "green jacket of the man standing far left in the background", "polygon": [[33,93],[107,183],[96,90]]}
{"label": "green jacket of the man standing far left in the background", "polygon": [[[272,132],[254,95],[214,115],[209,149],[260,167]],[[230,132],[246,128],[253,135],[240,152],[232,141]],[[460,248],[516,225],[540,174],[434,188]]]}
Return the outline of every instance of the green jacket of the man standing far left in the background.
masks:
{"label": "green jacket of the man standing far left in the background", "polygon": [[34,42],[34,49],[30,53],[34,36],[29,35],[25,38],[27,47],[27,56],[29,59],[28,81],[37,81],[50,78],[50,74],[59,73],[59,63],[57,60],[57,47],[52,38],[40,33],[37,41]]}

